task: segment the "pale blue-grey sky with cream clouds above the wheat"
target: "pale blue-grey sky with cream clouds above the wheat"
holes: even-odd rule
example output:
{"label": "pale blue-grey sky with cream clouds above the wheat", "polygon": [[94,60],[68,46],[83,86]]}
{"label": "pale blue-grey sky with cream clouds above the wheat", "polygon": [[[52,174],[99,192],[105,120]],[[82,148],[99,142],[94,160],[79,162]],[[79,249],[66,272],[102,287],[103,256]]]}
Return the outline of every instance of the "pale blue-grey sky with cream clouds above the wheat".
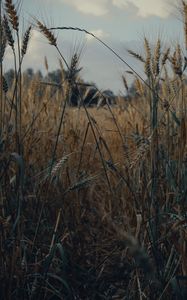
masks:
{"label": "pale blue-grey sky with cream clouds above the wheat", "polygon": [[[142,51],[146,36],[151,43],[158,37],[164,44],[175,44],[183,38],[179,20],[179,0],[22,0],[24,24],[33,17],[47,26],[74,26],[93,32],[136,71],[141,66],[129,57],[126,49]],[[56,31],[58,45],[68,61],[74,51],[81,52],[80,66],[83,78],[96,82],[101,89],[122,91],[121,75],[127,67],[98,41],[79,32]],[[30,41],[25,67],[44,69],[47,57],[51,70],[58,67],[58,54],[41,34],[34,31]]]}

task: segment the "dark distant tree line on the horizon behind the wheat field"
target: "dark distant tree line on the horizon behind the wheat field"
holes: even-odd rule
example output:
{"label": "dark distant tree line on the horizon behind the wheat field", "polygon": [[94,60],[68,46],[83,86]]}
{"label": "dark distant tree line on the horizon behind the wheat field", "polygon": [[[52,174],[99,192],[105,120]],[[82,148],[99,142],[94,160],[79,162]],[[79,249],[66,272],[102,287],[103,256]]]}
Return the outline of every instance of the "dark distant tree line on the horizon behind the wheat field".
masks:
{"label": "dark distant tree line on the horizon behind the wheat field", "polygon": [[[63,84],[66,82],[66,88],[67,85],[69,85],[69,101],[68,104],[70,106],[78,106],[82,105],[82,102],[84,102],[87,106],[96,106],[96,105],[105,105],[106,102],[109,104],[115,103],[115,95],[111,90],[104,90],[99,91],[97,89],[97,86],[94,83],[88,83],[82,80],[80,77],[78,77],[78,73],[73,74],[73,80],[72,78],[68,78],[69,74],[67,71],[62,72],[61,69],[57,69],[51,72],[47,72],[46,75],[43,75],[41,71],[34,71],[32,68],[28,68],[25,71],[23,71],[23,84],[29,84],[32,80],[37,80],[38,82],[41,82],[41,84],[46,83],[51,84],[51,96],[53,93],[55,94],[58,86],[61,86],[63,89]],[[10,69],[7,72],[5,72],[4,77],[6,79],[7,85],[9,88],[12,87],[14,82],[14,70]],[[75,83],[76,82],[76,83]],[[44,93],[44,89],[41,89],[38,91],[40,93],[40,96],[42,97],[42,93]]]}

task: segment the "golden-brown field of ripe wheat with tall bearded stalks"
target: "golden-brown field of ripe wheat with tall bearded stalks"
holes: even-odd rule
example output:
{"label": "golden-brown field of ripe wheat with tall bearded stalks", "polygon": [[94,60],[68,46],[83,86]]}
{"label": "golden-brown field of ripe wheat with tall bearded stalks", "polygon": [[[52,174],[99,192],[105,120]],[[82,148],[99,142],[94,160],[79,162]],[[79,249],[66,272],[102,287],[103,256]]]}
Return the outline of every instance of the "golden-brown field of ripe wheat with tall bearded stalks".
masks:
{"label": "golden-brown field of ripe wheat with tall bearded stalks", "polygon": [[[62,82],[22,71],[33,28],[22,39],[16,5],[2,2],[0,299],[186,299],[187,3],[184,46],[145,37],[143,55],[129,50],[146,76],[129,70],[135,96],[91,108],[77,54],[68,65],[38,20]],[[80,107],[71,106],[75,89]]]}

